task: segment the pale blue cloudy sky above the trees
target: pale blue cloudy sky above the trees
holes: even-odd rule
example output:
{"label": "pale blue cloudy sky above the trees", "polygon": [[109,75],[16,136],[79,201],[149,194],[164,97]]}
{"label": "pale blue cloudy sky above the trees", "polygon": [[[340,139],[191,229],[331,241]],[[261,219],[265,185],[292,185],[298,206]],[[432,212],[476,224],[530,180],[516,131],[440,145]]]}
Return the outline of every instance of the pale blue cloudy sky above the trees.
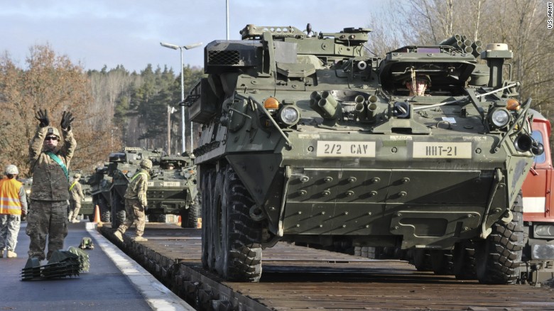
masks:
{"label": "pale blue cloudy sky above the trees", "polygon": [[[369,27],[381,0],[229,0],[229,38],[246,24],[295,26],[338,32]],[[85,69],[148,63],[180,72],[179,50],[160,42],[190,45],[227,38],[226,0],[0,0],[0,52],[26,67],[29,48],[46,43]],[[202,46],[202,48],[203,48]],[[203,49],[184,50],[184,63],[203,66]]]}

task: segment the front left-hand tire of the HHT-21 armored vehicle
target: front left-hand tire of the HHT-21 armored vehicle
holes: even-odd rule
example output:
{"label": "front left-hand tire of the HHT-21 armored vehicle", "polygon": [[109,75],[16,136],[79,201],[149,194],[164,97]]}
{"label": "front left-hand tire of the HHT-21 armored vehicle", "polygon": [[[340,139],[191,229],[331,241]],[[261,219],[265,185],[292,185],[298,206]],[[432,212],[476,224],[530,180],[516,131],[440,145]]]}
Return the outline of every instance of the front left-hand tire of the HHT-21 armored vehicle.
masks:
{"label": "front left-hand tire of the HHT-21 armored vehicle", "polygon": [[226,280],[258,282],[262,228],[249,217],[254,201],[229,165],[217,173],[213,203],[215,270]]}

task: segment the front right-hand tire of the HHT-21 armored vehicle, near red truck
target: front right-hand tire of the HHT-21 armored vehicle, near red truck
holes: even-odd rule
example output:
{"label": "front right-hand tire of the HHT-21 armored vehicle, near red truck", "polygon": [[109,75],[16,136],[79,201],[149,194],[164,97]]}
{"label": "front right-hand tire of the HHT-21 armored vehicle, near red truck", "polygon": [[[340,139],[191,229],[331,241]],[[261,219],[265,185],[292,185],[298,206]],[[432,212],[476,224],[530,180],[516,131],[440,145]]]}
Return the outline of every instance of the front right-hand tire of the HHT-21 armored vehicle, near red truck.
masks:
{"label": "front right-hand tire of the HHT-21 armored vehicle, near red truck", "polygon": [[515,284],[523,253],[523,206],[521,193],[514,202],[514,218],[496,222],[485,241],[476,245],[477,278],[484,284]]}

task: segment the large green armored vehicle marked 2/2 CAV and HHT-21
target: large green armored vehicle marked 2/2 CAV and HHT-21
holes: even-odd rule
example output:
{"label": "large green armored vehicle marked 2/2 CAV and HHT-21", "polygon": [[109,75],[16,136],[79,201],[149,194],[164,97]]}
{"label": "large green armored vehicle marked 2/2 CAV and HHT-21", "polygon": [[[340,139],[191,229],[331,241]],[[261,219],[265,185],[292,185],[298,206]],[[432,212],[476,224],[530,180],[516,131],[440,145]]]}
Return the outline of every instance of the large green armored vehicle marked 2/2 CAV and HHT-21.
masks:
{"label": "large green armored vehicle marked 2/2 CAV and HHT-21", "polygon": [[[202,124],[202,264],[258,281],[278,241],[433,251],[474,246],[482,283],[515,283],[523,248],[521,185],[541,145],[531,99],[503,75],[512,53],[477,58],[448,45],[381,60],[369,29],[316,33],[246,26],[205,47],[185,104]],[[509,70],[509,67],[507,67]],[[427,80],[423,95],[406,82]]]}

